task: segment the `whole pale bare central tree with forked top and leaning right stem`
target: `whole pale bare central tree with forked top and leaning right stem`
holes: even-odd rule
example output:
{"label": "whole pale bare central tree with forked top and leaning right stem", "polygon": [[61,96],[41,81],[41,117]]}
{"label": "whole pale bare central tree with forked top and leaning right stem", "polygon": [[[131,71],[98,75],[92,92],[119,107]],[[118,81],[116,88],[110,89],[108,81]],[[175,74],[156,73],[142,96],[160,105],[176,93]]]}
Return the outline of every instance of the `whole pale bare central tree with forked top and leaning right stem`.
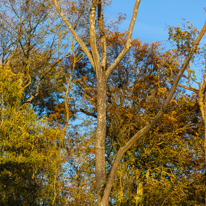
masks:
{"label": "whole pale bare central tree with forked top and leaning right stem", "polygon": [[[75,32],[72,25],[67,20],[66,16],[63,14],[60,5],[58,4],[58,0],[53,0],[54,5],[62,17],[63,21],[67,25],[68,29],[72,33],[74,39],[79,43],[84,53],[87,55],[91,65],[93,66],[96,76],[97,76],[97,133],[96,133],[96,160],[95,160],[95,175],[96,175],[96,188],[97,188],[97,205],[98,206],[108,206],[109,205],[109,196],[112,188],[112,184],[114,182],[114,177],[121,161],[122,156],[124,153],[142,136],[144,135],[151,127],[153,127],[160,117],[163,115],[164,111],[166,110],[178,84],[178,81],[182,77],[185,69],[187,68],[193,54],[197,50],[197,45],[199,44],[200,40],[202,39],[205,31],[206,31],[206,23],[203,26],[201,32],[199,33],[196,41],[194,42],[193,47],[191,48],[188,56],[186,56],[184,63],[177,74],[173,86],[162,105],[162,108],[157,113],[157,115],[148,122],[148,124],[138,131],[123,147],[119,149],[117,152],[115,161],[111,167],[110,174],[106,181],[106,162],[105,162],[105,138],[106,138],[106,82],[109,78],[112,71],[116,68],[118,63],[122,60],[125,54],[128,52],[129,48],[131,47],[131,37],[132,32],[139,8],[141,0],[136,0],[132,19],[128,29],[128,35],[126,43],[120,52],[119,56],[114,60],[111,65],[107,65],[107,50],[106,50],[106,36],[104,31],[104,21],[103,21],[103,11],[102,11],[102,0],[92,0],[92,6],[90,9],[90,46],[91,51],[86,47],[83,40],[78,36]],[[95,27],[95,17],[96,17],[96,8],[98,6],[98,21],[99,24],[99,32],[100,32],[100,39],[101,39],[101,55],[99,54],[98,47],[97,47],[97,40],[96,40],[96,27]],[[101,60],[100,60],[101,56]],[[205,141],[206,142],[206,141]],[[206,143],[205,143],[206,144]]]}

